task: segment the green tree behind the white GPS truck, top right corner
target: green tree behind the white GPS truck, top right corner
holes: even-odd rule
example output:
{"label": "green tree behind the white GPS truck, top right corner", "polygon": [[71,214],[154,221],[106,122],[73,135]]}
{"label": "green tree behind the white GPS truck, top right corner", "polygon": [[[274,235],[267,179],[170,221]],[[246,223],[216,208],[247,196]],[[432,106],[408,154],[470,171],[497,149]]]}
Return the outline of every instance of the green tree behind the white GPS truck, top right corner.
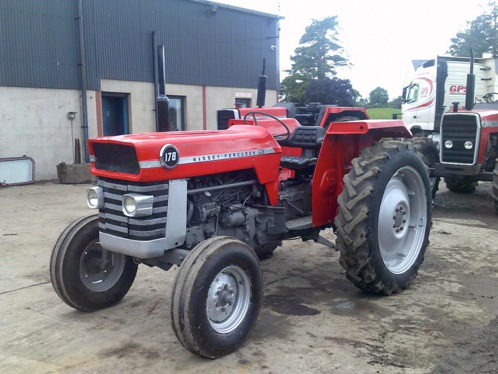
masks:
{"label": "green tree behind the white GPS truck, top right corner", "polygon": [[448,53],[453,56],[468,57],[472,47],[476,55],[485,52],[498,57],[498,5],[497,1],[488,3],[489,10],[474,20],[467,22],[464,31],[457,32],[451,39]]}

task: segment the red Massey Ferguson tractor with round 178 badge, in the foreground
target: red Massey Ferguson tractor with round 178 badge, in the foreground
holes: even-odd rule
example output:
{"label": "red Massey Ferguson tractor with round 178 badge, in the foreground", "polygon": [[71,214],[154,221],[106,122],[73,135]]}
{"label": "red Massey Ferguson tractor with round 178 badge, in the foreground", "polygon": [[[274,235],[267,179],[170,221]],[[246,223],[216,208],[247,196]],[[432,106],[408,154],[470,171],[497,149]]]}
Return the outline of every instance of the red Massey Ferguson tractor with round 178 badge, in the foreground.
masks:
{"label": "red Massey Ferguson tractor with round 178 badge, in the foreground", "polygon": [[[284,240],[335,248],[362,290],[401,291],[428,245],[429,168],[393,139],[411,136],[403,121],[367,118],[303,126],[285,107],[258,108],[224,130],[91,139],[87,204],[98,213],[57,240],[55,291],[98,311],[123,299],[138,264],[177,265],[172,330],[206,358],[248,340],[263,300],[258,256]],[[335,244],[320,235],[329,228]]]}

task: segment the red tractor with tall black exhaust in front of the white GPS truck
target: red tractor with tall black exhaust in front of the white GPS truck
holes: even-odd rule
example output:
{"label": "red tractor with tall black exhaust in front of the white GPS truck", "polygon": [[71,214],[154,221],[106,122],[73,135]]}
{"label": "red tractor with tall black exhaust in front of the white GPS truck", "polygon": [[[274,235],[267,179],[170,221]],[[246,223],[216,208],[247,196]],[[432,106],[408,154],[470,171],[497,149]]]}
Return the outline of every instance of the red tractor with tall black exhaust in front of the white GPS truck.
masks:
{"label": "red tractor with tall black exhaust in front of the white GPS truck", "polygon": [[[484,95],[475,104],[474,53],[471,50],[470,74],[467,75],[465,110],[459,102],[441,119],[440,162],[431,170],[433,178],[444,178],[454,192],[469,193],[478,181],[493,182],[492,195],[498,212],[498,93]],[[485,102],[482,102],[485,101]]]}

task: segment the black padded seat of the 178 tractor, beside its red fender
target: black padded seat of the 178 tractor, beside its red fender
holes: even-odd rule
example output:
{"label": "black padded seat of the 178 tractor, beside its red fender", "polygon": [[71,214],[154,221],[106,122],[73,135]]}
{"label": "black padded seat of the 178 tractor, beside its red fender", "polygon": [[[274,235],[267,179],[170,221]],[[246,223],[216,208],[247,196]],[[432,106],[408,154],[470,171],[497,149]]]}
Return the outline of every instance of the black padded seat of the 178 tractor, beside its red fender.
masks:
{"label": "black padded seat of the 178 tractor, beside its red fender", "polygon": [[325,130],[319,126],[298,126],[287,139],[279,140],[284,147],[302,148],[301,156],[282,156],[280,166],[291,170],[305,170],[316,165]]}

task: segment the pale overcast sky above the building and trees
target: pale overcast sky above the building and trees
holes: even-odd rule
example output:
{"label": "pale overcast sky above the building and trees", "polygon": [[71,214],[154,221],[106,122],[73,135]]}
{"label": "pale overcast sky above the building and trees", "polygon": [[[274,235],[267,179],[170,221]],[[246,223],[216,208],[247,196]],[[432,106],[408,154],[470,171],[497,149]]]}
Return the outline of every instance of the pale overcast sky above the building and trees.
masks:
{"label": "pale overcast sky above the building and trees", "polygon": [[[445,54],[450,38],[466,21],[484,12],[487,1],[462,0],[219,0],[231,5],[280,14],[280,69],[289,69],[289,57],[311,19],[337,15],[339,38],[353,64],[339,71],[362,96],[380,86],[389,99],[401,94],[412,59]],[[284,74],[281,73],[281,77]]]}

